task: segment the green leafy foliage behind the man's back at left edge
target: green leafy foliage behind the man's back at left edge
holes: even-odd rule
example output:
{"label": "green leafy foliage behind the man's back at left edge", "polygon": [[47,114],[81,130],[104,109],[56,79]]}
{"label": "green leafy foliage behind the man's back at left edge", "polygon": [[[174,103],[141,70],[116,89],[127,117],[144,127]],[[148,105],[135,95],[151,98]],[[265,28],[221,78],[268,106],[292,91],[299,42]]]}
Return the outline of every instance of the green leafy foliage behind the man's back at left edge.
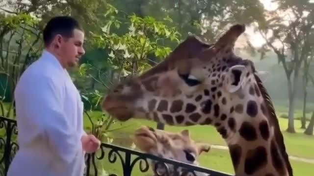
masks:
{"label": "green leafy foliage behind the man's back at left edge", "polygon": [[[38,56],[41,32],[38,19],[26,13],[0,15],[0,107],[3,116],[10,116],[14,102],[13,90],[26,67]],[[4,110],[3,102],[11,102]]]}

